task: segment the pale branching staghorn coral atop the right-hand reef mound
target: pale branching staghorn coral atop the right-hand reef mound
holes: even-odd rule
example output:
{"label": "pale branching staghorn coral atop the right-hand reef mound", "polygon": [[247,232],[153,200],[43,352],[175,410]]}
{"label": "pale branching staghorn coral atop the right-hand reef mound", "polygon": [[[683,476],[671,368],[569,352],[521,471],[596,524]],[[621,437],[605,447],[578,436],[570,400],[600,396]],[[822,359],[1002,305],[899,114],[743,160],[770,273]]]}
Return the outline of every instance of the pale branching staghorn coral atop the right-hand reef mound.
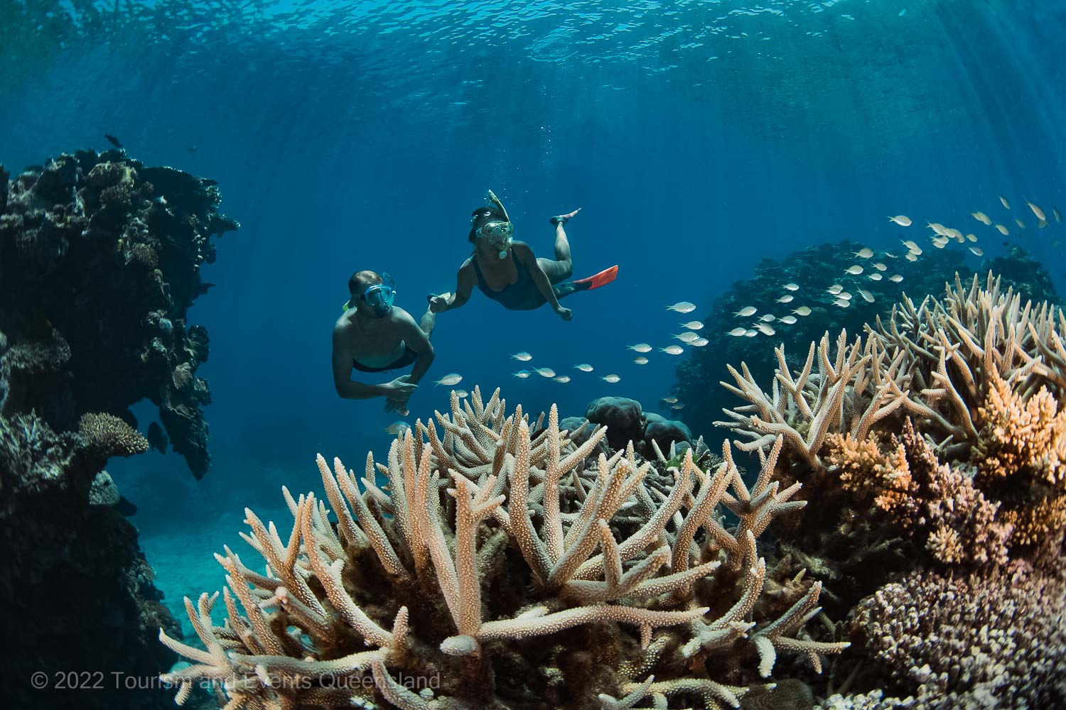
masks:
{"label": "pale branching staghorn coral atop the right-hand reef mound", "polygon": [[[980,439],[978,409],[992,387],[995,370],[1011,392],[1027,401],[1041,386],[1066,389],[1066,315],[1047,302],[1021,303],[1012,290],[988,275],[970,288],[955,279],[943,301],[909,298],[893,308],[888,323],[877,318],[866,340],[847,344],[846,331],[830,361],[828,333],[811,343],[806,363],[789,367],[784,345],[768,394],[741,363],[729,367],[736,385],[722,385],[747,403],[726,410],[716,422],[749,440],[745,450],[785,436],[790,456],[814,470],[824,468],[820,449],[830,433],[861,440],[889,417],[910,416],[938,450],[965,458]],[[812,373],[815,353],[818,371]],[[890,419],[889,419],[890,420]]]}

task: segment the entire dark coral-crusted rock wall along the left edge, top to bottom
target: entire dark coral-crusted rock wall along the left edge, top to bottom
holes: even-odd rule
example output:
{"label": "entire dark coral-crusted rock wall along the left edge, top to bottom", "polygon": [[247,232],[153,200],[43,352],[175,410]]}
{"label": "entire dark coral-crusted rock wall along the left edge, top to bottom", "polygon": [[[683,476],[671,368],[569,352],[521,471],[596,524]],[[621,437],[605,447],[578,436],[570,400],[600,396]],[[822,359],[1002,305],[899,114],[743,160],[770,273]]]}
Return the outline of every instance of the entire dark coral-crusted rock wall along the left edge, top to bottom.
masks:
{"label": "entire dark coral-crusted rock wall along the left edge, top to bottom", "polygon": [[7,177],[0,169],[0,605],[18,621],[0,662],[5,707],[69,704],[77,691],[51,682],[62,673],[104,674],[79,707],[163,707],[162,693],[109,675],[150,678],[173,661],[155,630],[180,631],[125,518],[135,507],[103,467],[148,450],[129,411],[148,398],[192,472],[207,472],[210,395],[195,376],[207,333],[184,318],[208,285],[210,236],[238,225],[217,212],[216,188],[117,150]]}

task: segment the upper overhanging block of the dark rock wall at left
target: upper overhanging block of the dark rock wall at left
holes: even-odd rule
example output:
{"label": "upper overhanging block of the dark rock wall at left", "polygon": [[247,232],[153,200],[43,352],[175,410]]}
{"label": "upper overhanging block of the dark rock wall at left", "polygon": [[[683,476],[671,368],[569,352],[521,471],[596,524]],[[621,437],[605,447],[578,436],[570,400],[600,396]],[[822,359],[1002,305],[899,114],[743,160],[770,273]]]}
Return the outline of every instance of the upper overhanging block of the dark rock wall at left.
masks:
{"label": "upper overhanging block of the dark rock wall at left", "polygon": [[0,368],[21,371],[0,412],[36,409],[65,431],[86,413],[132,424],[128,408],[149,399],[203,477],[211,395],[195,373],[208,336],[185,312],[211,285],[199,274],[215,259],[210,237],[239,227],[219,212],[219,188],[118,150],[64,153],[3,183]]}

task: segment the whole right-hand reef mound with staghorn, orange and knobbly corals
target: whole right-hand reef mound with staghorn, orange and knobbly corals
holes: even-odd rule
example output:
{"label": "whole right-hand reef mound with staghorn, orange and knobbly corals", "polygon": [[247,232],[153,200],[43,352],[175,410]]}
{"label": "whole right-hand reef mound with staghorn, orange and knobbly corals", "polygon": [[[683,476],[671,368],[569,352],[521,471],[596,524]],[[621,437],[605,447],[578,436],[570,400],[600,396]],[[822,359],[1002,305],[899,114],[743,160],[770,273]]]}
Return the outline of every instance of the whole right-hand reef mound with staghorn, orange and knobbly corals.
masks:
{"label": "whole right-hand reef mound with staghorn, orange and knobbly corals", "polygon": [[823,707],[1066,704],[1064,333],[1061,309],[989,274],[905,298],[865,337],[826,333],[798,367],[777,348],[772,389],[730,367],[744,403],[718,425],[761,459],[784,442],[778,480],[811,503],[775,522],[768,558],[849,616],[834,675],[914,695]]}

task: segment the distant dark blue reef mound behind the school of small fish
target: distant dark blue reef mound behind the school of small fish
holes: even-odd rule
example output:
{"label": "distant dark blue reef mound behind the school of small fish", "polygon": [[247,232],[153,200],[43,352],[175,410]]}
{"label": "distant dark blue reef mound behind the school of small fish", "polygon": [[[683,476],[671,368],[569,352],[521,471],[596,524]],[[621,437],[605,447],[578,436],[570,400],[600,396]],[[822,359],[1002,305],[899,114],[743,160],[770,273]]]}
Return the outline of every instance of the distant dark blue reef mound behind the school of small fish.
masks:
{"label": "distant dark blue reef mound behind the school of small fish", "polygon": [[[926,250],[917,263],[906,265],[906,278],[899,283],[888,278],[892,275],[891,269],[898,268],[898,264],[890,259],[884,260],[888,262],[888,270],[884,271],[885,278],[881,280],[871,280],[866,274],[841,274],[842,264],[861,261],[851,259],[851,254],[861,248],[854,242],[840,242],[794,251],[780,261],[765,259],[756,267],[750,279],[733,283],[727,293],[715,299],[702,317],[705,326],[701,332],[710,341],[709,344],[692,348],[677,368],[678,382],[674,394],[685,403],[681,418],[694,431],[709,432],[714,420],[722,417],[722,410],[732,401],[729,394],[718,387],[718,382],[727,375],[727,364],[739,367],[740,363],[745,363],[759,381],[773,377],[778,362],[768,341],[774,345],[782,340],[807,343],[818,341],[827,331],[859,333],[866,324],[873,324],[878,316],[887,318],[892,304],[904,292],[918,294],[919,298],[925,294],[942,294],[952,274],[958,274],[963,281],[970,280],[975,274],[966,265],[962,252],[947,249]],[[899,268],[903,269],[902,266]],[[1025,300],[1059,302],[1047,270],[1019,247],[1012,247],[1006,257],[986,260],[982,273],[989,269],[1001,277],[1004,288],[1014,287],[1014,292],[1021,294]],[[870,270],[869,265],[867,270]],[[798,290],[786,291],[784,285],[789,282],[795,283]],[[834,283],[855,292],[847,308],[835,306],[835,296],[826,293],[826,288]],[[874,300],[869,302],[861,298],[857,293],[859,288],[867,291]],[[790,295],[793,296],[790,302],[777,302],[777,299]],[[777,314],[777,319],[769,324],[776,331],[773,336],[760,333],[754,337],[734,337],[727,334],[738,326],[748,326],[750,318],[733,315],[746,306],[759,309],[754,317],[765,313]],[[781,323],[780,316],[791,314],[800,306],[810,308],[810,314],[796,317],[794,324]],[[792,356],[790,352],[789,357]],[[790,361],[793,367],[802,364]]]}

